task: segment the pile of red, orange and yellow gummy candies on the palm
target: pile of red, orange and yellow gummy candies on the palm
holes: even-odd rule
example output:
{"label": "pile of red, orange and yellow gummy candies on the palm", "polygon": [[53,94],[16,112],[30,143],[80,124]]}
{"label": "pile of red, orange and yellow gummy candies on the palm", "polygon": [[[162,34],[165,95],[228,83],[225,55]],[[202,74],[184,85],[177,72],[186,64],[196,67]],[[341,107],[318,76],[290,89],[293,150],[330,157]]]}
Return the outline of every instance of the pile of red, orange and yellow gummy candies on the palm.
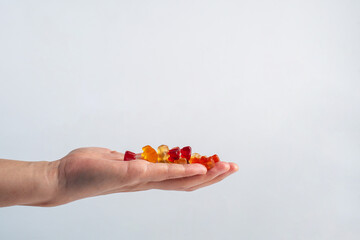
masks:
{"label": "pile of red, orange and yellow gummy candies on the palm", "polygon": [[200,163],[207,169],[211,169],[215,166],[215,163],[219,162],[219,156],[214,154],[210,157],[201,156],[198,153],[191,154],[191,147],[186,146],[183,148],[174,147],[169,150],[166,145],[158,147],[157,151],[149,145],[142,148],[142,153],[133,153],[126,151],[124,155],[124,161],[130,161],[135,159],[143,159],[152,163],[178,163],[178,164],[192,164]]}

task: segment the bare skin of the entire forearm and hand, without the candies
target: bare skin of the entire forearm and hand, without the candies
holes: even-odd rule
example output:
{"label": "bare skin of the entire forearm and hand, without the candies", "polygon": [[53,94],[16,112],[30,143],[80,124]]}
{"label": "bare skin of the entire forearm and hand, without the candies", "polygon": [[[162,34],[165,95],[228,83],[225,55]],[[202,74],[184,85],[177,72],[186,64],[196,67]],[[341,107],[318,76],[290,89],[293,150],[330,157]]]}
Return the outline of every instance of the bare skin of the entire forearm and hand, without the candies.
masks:
{"label": "bare skin of the entire forearm and hand, without the candies", "polygon": [[52,162],[0,159],[0,207],[51,207],[82,198],[149,189],[194,191],[217,183],[238,170],[218,162],[200,164],[124,161],[107,148],[79,148]]}

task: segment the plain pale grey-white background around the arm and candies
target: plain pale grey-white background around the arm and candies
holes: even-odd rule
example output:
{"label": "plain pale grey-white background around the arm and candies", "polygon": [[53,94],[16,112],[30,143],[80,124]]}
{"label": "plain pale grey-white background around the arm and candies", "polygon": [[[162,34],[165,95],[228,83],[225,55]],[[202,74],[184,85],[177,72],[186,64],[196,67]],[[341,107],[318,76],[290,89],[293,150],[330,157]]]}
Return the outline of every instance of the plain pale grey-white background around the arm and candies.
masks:
{"label": "plain pale grey-white background around the arm and candies", "polygon": [[2,208],[0,239],[359,239],[359,123],[360,1],[0,0],[0,158],[164,143],[240,167]]}

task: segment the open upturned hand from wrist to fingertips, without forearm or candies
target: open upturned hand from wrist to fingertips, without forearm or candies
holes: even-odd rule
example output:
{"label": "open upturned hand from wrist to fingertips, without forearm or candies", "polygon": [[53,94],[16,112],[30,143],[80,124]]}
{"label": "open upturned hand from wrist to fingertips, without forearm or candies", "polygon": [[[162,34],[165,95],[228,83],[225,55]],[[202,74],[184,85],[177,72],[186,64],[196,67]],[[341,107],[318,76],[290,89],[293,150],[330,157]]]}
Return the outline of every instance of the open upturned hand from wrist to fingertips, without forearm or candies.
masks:
{"label": "open upturned hand from wrist to fingertips, without forearm or candies", "polygon": [[218,162],[207,171],[200,164],[123,161],[124,154],[106,148],[79,148],[58,160],[59,189],[51,205],[81,198],[149,189],[193,191],[217,183],[238,170]]}

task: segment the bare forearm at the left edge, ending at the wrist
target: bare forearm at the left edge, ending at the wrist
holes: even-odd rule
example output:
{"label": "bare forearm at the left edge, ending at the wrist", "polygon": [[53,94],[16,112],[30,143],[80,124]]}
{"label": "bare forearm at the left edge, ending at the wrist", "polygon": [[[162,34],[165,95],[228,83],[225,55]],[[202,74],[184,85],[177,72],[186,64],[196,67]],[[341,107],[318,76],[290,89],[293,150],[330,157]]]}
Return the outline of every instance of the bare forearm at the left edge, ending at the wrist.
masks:
{"label": "bare forearm at the left edge, ending at the wrist", "polygon": [[0,207],[52,206],[58,191],[58,164],[0,159]]}

